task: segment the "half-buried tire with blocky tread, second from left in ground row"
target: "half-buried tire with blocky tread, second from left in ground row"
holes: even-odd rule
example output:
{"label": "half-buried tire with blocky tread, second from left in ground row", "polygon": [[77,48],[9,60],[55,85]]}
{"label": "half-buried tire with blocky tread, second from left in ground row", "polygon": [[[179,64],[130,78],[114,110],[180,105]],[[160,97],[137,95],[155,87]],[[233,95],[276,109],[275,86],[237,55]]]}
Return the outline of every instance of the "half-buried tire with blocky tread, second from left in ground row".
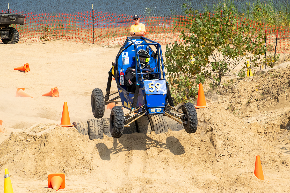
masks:
{"label": "half-buried tire with blocky tread, second from left in ground row", "polygon": [[102,120],[89,119],[89,137],[90,139],[103,139],[104,138],[104,128]]}

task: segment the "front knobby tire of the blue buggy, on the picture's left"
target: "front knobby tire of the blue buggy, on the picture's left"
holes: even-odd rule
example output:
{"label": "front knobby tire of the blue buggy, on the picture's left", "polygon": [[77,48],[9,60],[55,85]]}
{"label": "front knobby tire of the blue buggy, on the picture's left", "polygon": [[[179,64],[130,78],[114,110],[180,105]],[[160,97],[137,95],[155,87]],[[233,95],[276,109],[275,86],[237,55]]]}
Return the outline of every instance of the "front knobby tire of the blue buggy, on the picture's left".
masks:
{"label": "front knobby tire of the blue buggy, on the picture's left", "polygon": [[119,138],[124,130],[124,111],[121,106],[114,106],[110,115],[110,132],[112,137]]}

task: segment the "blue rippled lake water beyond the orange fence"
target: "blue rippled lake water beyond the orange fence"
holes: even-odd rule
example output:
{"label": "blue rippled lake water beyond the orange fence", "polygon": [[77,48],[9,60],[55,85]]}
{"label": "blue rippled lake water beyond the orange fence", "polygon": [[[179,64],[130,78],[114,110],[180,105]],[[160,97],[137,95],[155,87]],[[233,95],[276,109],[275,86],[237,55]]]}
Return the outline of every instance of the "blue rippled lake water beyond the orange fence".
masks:
{"label": "blue rippled lake water beyond the orange fence", "polygon": [[[202,12],[203,5],[212,7],[213,2],[216,2],[216,0],[12,0],[11,2],[0,0],[0,10],[7,10],[7,3],[9,3],[10,10],[35,13],[74,13],[90,11],[92,10],[92,4],[94,4],[95,11],[116,14],[180,15],[183,14],[181,7],[183,3],[191,3],[194,9]],[[238,5],[244,2],[242,0],[235,1]],[[278,0],[273,0],[273,2],[278,3]]]}

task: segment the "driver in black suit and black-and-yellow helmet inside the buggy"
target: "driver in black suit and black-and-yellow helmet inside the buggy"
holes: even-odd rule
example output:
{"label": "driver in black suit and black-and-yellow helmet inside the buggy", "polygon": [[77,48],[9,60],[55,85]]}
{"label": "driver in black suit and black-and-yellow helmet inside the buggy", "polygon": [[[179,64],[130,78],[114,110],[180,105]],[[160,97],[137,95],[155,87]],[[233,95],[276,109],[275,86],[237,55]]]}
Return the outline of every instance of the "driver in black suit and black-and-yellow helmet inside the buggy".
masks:
{"label": "driver in black suit and black-and-yellow helmet inside the buggy", "polygon": [[[152,68],[150,68],[150,66],[148,65],[149,60],[150,60],[150,56],[149,56],[148,52],[146,52],[145,50],[139,50],[138,54],[139,54],[141,68],[148,69],[148,73],[154,72],[154,70]],[[138,61],[138,59],[137,59],[137,61]],[[137,72],[138,73],[140,72],[139,68],[140,68],[139,65],[137,65]],[[138,80],[141,80],[141,76],[139,76]],[[133,68],[129,67],[126,70],[125,85],[126,85],[129,92],[135,92],[135,89],[136,89],[136,69],[134,67]]]}

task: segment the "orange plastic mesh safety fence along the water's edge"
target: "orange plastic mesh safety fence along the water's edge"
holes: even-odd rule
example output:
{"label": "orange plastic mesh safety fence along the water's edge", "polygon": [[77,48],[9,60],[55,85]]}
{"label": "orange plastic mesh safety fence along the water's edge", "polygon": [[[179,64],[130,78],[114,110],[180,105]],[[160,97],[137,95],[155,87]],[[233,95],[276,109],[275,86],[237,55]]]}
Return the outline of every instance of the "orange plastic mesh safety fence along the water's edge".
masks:
{"label": "orange plastic mesh safety fence along the water's edge", "polygon": [[[103,45],[122,45],[127,36],[130,36],[130,26],[134,24],[132,15],[113,14],[94,10],[63,14],[30,13],[9,10],[12,14],[26,16],[24,25],[11,25],[20,34],[20,42],[41,42],[49,40],[64,40],[68,42],[99,43]],[[2,10],[1,12],[7,12]],[[214,12],[210,13],[213,16]],[[267,31],[267,48],[274,51],[276,46],[276,33],[278,30],[277,53],[290,53],[289,27],[270,26],[235,16],[239,25],[246,21],[255,27],[262,25]],[[172,44],[175,41],[182,43],[179,38],[181,30],[191,21],[186,15],[177,16],[141,16],[140,23],[146,26],[145,35],[160,44]],[[93,26],[94,23],[94,26]],[[94,29],[94,38],[93,38]],[[251,34],[253,38],[257,34]]]}

